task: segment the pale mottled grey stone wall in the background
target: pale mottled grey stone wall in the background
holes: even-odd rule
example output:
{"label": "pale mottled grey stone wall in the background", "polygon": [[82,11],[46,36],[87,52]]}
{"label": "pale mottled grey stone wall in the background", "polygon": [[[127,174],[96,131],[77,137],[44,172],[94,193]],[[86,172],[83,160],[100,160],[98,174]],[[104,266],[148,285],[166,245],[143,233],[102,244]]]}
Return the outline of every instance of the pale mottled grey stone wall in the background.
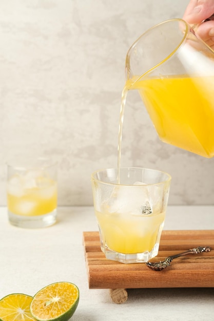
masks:
{"label": "pale mottled grey stone wall in the background", "polygon": [[[59,204],[92,205],[90,174],[117,164],[125,56],[188,0],[0,0],[0,205],[6,162],[59,159]],[[214,125],[213,125],[214,126]],[[127,98],[123,166],[172,175],[169,203],[213,205],[214,160],[159,141],[135,92]]]}

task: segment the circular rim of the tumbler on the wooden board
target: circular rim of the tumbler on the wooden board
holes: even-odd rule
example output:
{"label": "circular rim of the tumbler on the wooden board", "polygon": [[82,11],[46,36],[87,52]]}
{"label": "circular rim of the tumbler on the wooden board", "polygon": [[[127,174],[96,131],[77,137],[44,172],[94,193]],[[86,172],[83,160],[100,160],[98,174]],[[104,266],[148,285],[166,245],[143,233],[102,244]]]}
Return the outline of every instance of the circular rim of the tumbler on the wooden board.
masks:
{"label": "circular rim of the tumbler on the wooden board", "polygon": [[169,183],[171,181],[171,175],[169,173],[161,171],[159,169],[152,169],[152,168],[145,168],[145,167],[121,167],[120,170],[121,169],[141,169],[141,170],[143,169],[143,170],[148,170],[148,171],[153,171],[153,172],[159,172],[159,173],[166,174],[168,178],[162,180],[162,182],[159,182],[159,183],[143,184],[143,185],[142,184],[132,185],[132,184],[111,183],[111,182],[107,183],[107,182],[103,182],[103,180],[100,180],[100,179],[94,177],[94,175],[96,173],[98,173],[98,172],[104,172],[104,171],[107,171],[107,170],[116,170],[116,171],[118,171],[117,167],[112,167],[112,168],[98,169],[98,170],[92,172],[91,173],[91,180],[93,180],[94,182],[97,182],[97,183],[102,183],[102,184],[105,184],[105,185],[114,185],[114,186],[121,186],[121,185],[123,185],[123,186],[144,186],[144,185],[145,186],[148,186],[148,185],[149,186],[155,186],[155,185],[162,185],[162,184],[167,183],[167,182]]}

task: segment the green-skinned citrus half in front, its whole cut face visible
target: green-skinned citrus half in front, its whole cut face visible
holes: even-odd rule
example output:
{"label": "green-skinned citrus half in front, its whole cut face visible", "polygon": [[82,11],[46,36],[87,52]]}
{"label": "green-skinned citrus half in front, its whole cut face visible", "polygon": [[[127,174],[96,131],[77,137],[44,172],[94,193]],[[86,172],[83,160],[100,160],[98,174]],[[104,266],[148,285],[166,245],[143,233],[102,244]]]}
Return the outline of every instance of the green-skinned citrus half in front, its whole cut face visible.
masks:
{"label": "green-skinned citrus half in front, its whole cut face visible", "polygon": [[30,312],[38,321],[67,321],[75,312],[80,292],[69,282],[57,282],[38,291],[30,304]]}

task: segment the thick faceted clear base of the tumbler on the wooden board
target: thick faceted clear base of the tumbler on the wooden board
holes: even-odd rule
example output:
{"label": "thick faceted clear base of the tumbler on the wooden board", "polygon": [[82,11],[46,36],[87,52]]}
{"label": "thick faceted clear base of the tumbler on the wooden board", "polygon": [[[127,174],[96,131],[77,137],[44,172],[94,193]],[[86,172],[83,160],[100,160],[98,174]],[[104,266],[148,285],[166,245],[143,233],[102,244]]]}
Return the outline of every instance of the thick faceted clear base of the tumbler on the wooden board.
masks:
{"label": "thick faceted clear base of the tumbler on the wooden board", "polygon": [[118,261],[121,263],[146,263],[152,257],[158,255],[159,243],[156,243],[151,251],[145,251],[142,253],[119,253],[113,250],[110,250],[108,247],[102,247],[101,250],[104,252],[106,258]]}

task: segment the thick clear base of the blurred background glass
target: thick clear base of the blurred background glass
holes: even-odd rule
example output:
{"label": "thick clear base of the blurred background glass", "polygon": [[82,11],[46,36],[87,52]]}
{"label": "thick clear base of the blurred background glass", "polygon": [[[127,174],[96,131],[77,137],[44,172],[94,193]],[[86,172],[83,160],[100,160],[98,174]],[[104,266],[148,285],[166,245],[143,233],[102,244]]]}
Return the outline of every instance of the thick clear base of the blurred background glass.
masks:
{"label": "thick clear base of the blurred background glass", "polygon": [[56,209],[50,213],[35,216],[16,215],[8,211],[8,218],[11,225],[27,229],[51,226],[56,222],[56,215]]}

